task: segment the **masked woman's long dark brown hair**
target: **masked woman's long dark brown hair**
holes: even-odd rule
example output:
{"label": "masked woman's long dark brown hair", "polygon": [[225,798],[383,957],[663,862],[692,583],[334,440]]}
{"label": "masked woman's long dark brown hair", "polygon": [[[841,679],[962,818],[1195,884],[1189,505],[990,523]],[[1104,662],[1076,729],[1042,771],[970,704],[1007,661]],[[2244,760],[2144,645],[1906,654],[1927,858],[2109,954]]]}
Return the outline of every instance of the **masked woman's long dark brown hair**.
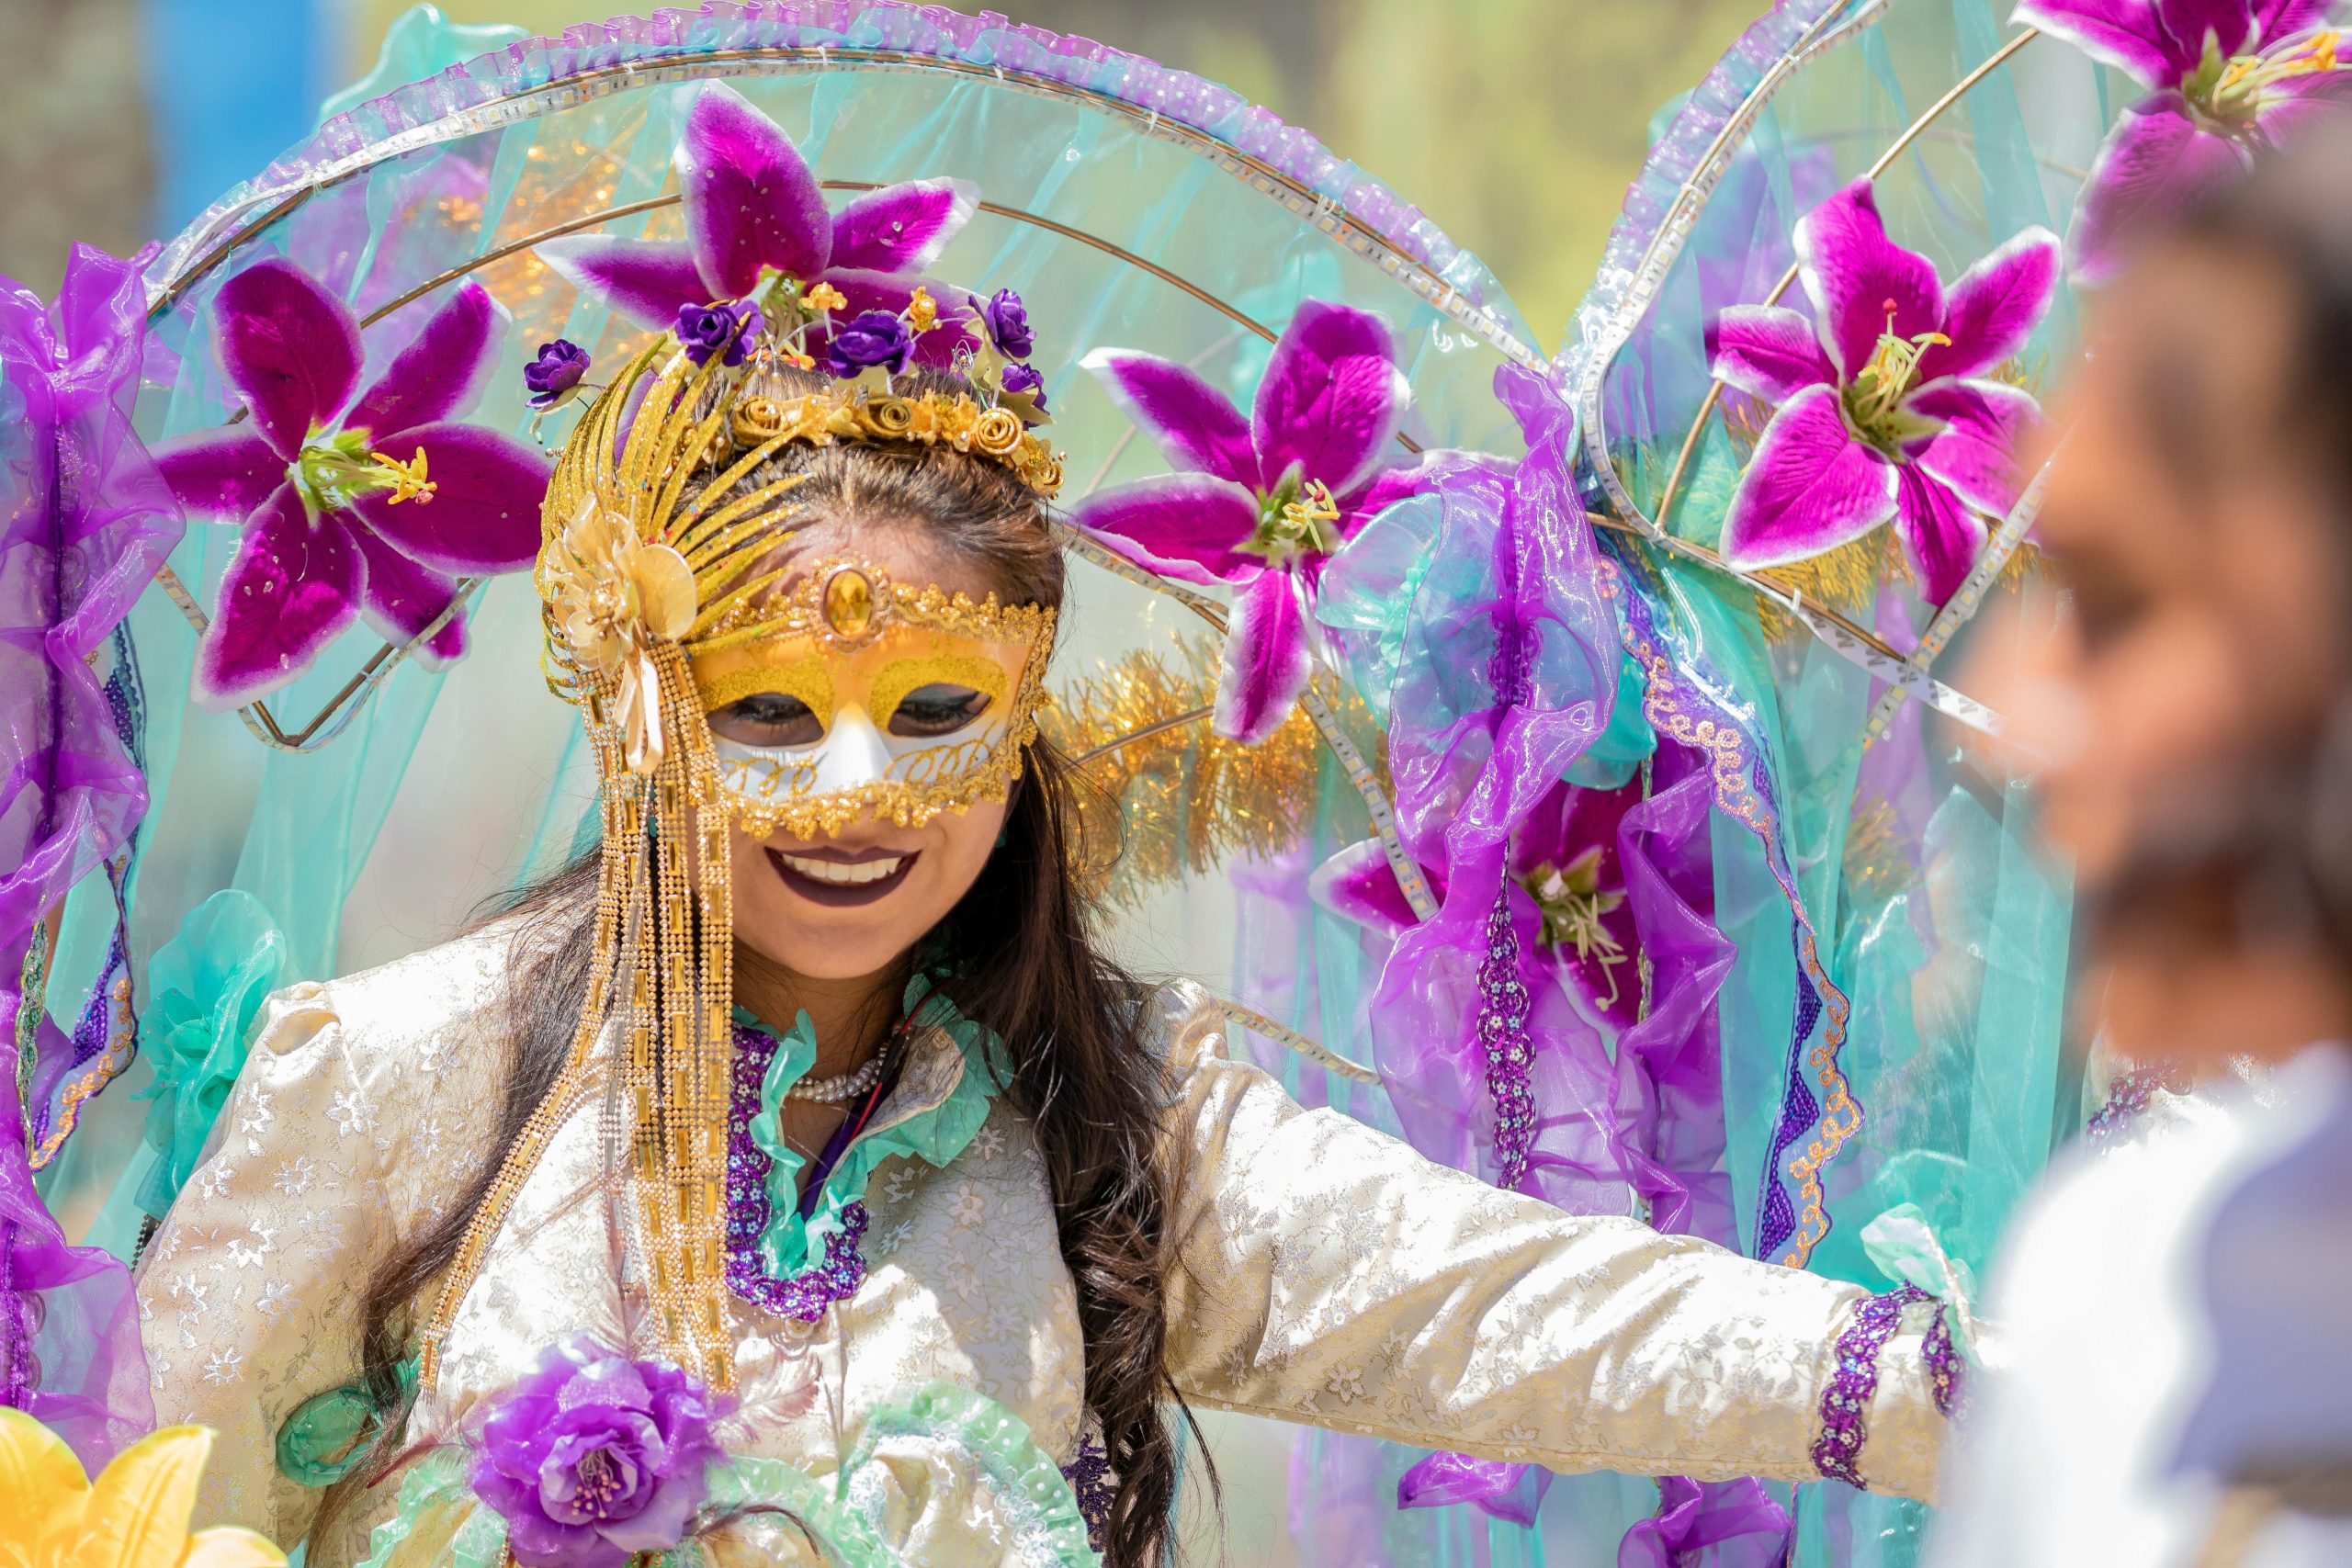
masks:
{"label": "masked woman's long dark brown hair", "polygon": [[[953,388],[915,381],[917,390]],[[795,378],[779,376],[779,390],[793,386]],[[781,473],[807,475],[790,491],[800,522],[913,527],[993,574],[1007,602],[1063,602],[1061,548],[1044,510],[1002,468],[941,447],[788,447],[741,489]],[[1145,987],[1096,950],[1089,910],[1073,889],[1073,856],[1082,849],[1073,788],[1068,764],[1044,741],[1035,743],[1007,806],[1002,846],[931,936],[950,957],[941,990],[1004,1039],[1014,1063],[1007,1098],[1037,1128],[1061,1255],[1077,1286],[1087,1406],[1117,1474],[1105,1561],[1145,1568],[1164,1554],[1176,1502],[1183,1448],[1171,1410],[1190,1422],[1167,1371],[1167,1225],[1178,1173],[1160,1147],[1167,1084],[1143,1037]],[[400,1363],[423,1305],[419,1295],[456,1258],[506,1150],[572,1046],[588,985],[595,889],[590,856],[501,910],[515,926],[503,1001],[513,1067],[499,1143],[461,1201],[400,1246],[362,1300],[360,1354],[381,1413],[376,1450],[386,1460],[397,1453],[405,1425]]]}

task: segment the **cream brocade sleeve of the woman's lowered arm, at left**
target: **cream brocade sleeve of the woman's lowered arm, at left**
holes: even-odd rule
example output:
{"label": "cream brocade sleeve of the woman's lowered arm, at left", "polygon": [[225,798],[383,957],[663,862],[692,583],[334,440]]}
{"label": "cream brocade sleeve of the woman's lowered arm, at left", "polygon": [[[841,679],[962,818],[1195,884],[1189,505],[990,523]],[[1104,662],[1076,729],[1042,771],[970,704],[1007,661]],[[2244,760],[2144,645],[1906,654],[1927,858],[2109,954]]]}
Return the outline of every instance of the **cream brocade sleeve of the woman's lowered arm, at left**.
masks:
{"label": "cream brocade sleeve of the woman's lowered arm, at left", "polygon": [[136,1276],[158,1420],[219,1432],[200,1521],[285,1547],[310,1530],[322,1493],[280,1472],[278,1434],[358,1382],[369,1276],[492,1143],[501,1058],[466,1009],[480,980],[480,954],[442,950],[270,997]]}

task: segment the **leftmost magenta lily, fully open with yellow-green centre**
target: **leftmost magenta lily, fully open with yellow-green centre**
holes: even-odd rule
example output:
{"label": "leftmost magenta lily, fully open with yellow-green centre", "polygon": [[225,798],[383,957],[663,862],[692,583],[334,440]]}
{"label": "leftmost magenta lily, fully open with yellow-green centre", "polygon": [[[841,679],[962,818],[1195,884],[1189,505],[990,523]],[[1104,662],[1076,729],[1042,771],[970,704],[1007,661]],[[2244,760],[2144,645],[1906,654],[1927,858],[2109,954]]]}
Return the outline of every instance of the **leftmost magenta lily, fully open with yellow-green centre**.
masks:
{"label": "leftmost magenta lily, fully open with yellow-green centre", "polygon": [[[245,524],[195,649],[205,708],[285,686],[358,616],[409,642],[449,609],[456,576],[539,555],[546,456],[456,418],[506,341],[506,310],[480,284],[459,287],[358,395],[360,320],[292,261],[223,282],[214,324],[249,418],[155,454],[191,515]],[[463,651],[456,611],[416,656],[440,668]]]}

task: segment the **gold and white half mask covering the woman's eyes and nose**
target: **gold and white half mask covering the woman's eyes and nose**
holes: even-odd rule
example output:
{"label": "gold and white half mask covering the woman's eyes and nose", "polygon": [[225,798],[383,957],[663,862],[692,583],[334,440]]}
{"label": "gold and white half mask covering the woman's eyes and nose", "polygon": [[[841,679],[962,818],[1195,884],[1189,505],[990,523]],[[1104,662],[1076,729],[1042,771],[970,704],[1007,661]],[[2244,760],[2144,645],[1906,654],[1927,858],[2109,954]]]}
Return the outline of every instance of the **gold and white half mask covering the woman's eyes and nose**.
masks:
{"label": "gold and white half mask covering the woman's eyes and nose", "polygon": [[687,656],[720,780],[755,837],[917,825],[1002,799],[1037,733],[1054,611],[903,588],[826,559]]}

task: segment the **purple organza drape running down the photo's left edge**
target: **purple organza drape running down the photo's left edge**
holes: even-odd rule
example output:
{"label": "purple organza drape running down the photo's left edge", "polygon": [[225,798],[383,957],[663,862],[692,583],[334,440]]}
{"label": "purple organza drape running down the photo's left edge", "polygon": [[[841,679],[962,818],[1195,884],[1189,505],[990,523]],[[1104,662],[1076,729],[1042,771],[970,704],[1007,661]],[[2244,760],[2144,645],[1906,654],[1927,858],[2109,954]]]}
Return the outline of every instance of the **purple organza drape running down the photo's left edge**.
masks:
{"label": "purple organza drape running down the photo's left edge", "polygon": [[[0,1018],[33,929],[146,811],[89,665],[181,534],[132,433],[146,341],[139,268],[75,247],[54,306],[0,280],[5,534],[0,534]],[[31,1023],[31,1020],[26,1020]],[[16,1041],[35,1030],[19,1027]],[[45,1051],[71,1041],[38,1020]],[[0,1088],[0,1394],[96,1469],[153,1425],[129,1274],[66,1246],[33,1190],[16,1084]]]}

